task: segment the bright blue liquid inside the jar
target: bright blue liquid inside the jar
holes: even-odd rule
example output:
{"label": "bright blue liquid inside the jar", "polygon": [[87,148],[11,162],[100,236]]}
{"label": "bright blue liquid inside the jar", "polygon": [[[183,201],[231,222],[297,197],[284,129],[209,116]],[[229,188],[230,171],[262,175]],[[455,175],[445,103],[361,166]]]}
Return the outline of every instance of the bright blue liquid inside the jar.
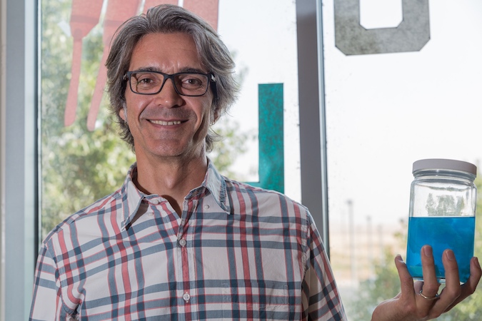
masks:
{"label": "bright blue liquid inside the jar", "polygon": [[436,275],[439,281],[445,280],[442,253],[453,250],[458,263],[461,282],[467,282],[471,274],[470,260],[473,257],[473,234],[476,218],[471,217],[429,217],[408,219],[407,267],[413,278],[422,279],[420,250],[423,245],[433,248]]}

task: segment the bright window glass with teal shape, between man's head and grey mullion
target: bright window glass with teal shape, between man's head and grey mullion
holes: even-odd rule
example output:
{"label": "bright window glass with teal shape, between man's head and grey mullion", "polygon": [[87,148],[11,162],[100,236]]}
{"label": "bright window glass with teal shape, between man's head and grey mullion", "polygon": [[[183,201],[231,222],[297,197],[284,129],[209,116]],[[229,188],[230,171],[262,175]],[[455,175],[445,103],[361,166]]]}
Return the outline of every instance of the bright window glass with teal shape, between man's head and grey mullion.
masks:
{"label": "bright window glass with teal shape, between man's head and grey mullion", "polygon": [[[299,201],[296,4],[289,0],[248,0],[240,5],[239,2],[221,0],[219,33],[234,56],[241,85],[238,101],[221,121],[221,126],[224,123],[238,123],[236,135],[247,138],[246,152],[234,159],[230,166],[231,174],[239,180],[259,182],[256,185],[280,190]],[[276,88],[281,91],[270,96]],[[274,108],[271,107],[271,101],[266,101],[270,97],[282,100],[281,106],[278,105],[281,114],[278,113],[276,118],[266,111],[267,108]],[[278,166],[276,171],[268,173],[265,170],[265,173],[260,173],[266,168],[263,161],[269,158],[266,149],[279,146],[276,138],[267,136],[274,128],[283,131],[278,138],[284,146],[281,153],[283,158],[273,160],[283,161],[283,171],[279,172],[281,167]],[[283,176],[283,189],[276,188],[276,185],[266,186],[265,182],[270,176]]]}

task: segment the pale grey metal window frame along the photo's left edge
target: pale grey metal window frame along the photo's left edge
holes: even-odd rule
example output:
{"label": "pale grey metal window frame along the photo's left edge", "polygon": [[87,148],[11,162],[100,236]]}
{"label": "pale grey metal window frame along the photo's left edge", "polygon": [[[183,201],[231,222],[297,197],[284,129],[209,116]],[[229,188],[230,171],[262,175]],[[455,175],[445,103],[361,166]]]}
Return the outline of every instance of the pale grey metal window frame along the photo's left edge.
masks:
{"label": "pale grey metal window frame along the photo's left edge", "polygon": [[28,320],[38,248],[37,1],[0,1],[0,320]]}

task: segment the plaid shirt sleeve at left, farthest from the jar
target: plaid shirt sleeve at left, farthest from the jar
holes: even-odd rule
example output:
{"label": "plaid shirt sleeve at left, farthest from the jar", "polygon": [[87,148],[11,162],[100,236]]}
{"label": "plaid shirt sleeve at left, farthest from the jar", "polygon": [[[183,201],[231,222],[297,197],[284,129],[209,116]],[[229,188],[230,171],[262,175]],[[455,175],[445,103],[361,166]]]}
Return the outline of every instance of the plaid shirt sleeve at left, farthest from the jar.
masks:
{"label": "plaid shirt sleeve at left, farthest from the jar", "polygon": [[[34,292],[29,320],[60,320],[61,310],[58,270],[54,255],[51,254],[44,243],[40,249],[35,269]],[[69,318],[64,317],[64,320],[69,320]]]}

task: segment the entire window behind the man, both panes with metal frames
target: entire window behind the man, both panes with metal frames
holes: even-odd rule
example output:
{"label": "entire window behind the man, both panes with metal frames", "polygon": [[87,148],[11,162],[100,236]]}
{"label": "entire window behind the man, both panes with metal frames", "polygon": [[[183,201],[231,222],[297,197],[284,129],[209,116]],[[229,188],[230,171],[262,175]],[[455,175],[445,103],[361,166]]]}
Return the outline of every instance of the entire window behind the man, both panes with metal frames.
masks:
{"label": "entire window behind the man, both panes with metal frames", "polygon": [[[39,66],[36,24],[32,23],[37,2]],[[29,310],[36,202],[41,214],[40,240],[67,215],[117,188],[134,161],[116,134],[101,94],[101,66],[110,40],[105,37],[104,21],[126,17],[121,18],[116,8],[109,9],[114,1],[89,2],[92,7],[73,9],[73,4],[84,1],[1,1],[1,44],[6,51],[1,56],[6,68],[0,91],[0,197],[5,204],[0,317],[7,315],[9,320],[24,320]],[[132,8],[123,9],[131,16],[157,2],[129,1],[126,6]],[[482,7],[478,0],[458,1],[456,6],[446,0],[432,1],[430,6],[428,1],[418,1],[426,7],[411,12],[421,15],[417,28],[428,31],[428,39],[418,39],[419,48],[388,39],[395,45],[382,41],[381,48],[368,46],[363,51],[363,41],[383,27],[396,29],[393,25],[399,24],[405,11],[401,1],[389,1],[391,8],[384,1],[383,7],[388,8],[384,10],[393,11],[395,18],[380,24],[373,14],[380,12],[373,10],[376,0],[359,0],[363,28],[357,32],[367,33],[353,37],[359,24],[356,11],[346,10],[347,2],[250,0],[239,5],[220,0],[216,26],[234,54],[243,92],[217,130],[225,133],[226,128],[234,128],[242,138],[234,146],[241,146],[243,153],[221,162],[226,165],[225,173],[263,185],[263,156],[258,155],[263,153],[263,144],[271,143],[262,138],[266,124],[259,123],[271,120],[263,114],[263,97],[273,94],[270,97],[281,101],[276,106],[281,106],[283,123],[281,127],[276,123],[281,128],[276,134],[282,135],[283,169],[276,170],[276,176],[283,180],[273,186],[307,205],[325,237],[328,218],[323,214],[329,210],[331,263],[348,315],[356,319],[353,311],[357,307],[368,307],[369,313],[378,301],[355,300],[350,293],[369,297],[374,281],[381,280],[380,271],[398,286],[390,267],[396,252],[404,255],[403,220],[408,212],[411,163],[431,157],[478,163],[481,158],[477,148],[481,80],[476,75],[482,69],[477,58]],[[196,1],[178,3],[191,6]],[[336,8],[344,10],[338,14]],[[323,15],[317,16],[321,9]],[[75,26],[70,22],[73,13],[94,17],[90,24],[77,25],[81,36],[75,39]],[[403,21],[408,20],[403,16]],[[353,30],[336,30],[343,26]],[[353,38],[358,47],[350,45]],[[318,59],[318,54],[323,58]],[[24,77],[6,81],[7,74]],[[69,105],[69,99],[74,103]],[[37,200],[35,195],[41,196]],[[396,286],[386,288],[396,290]],[[390,297],[391,293],[380,295]],[[479,299],[474,295],[471,300]],[[466,320],[462,310],[454,312],[459,313],[457,320]]]}

